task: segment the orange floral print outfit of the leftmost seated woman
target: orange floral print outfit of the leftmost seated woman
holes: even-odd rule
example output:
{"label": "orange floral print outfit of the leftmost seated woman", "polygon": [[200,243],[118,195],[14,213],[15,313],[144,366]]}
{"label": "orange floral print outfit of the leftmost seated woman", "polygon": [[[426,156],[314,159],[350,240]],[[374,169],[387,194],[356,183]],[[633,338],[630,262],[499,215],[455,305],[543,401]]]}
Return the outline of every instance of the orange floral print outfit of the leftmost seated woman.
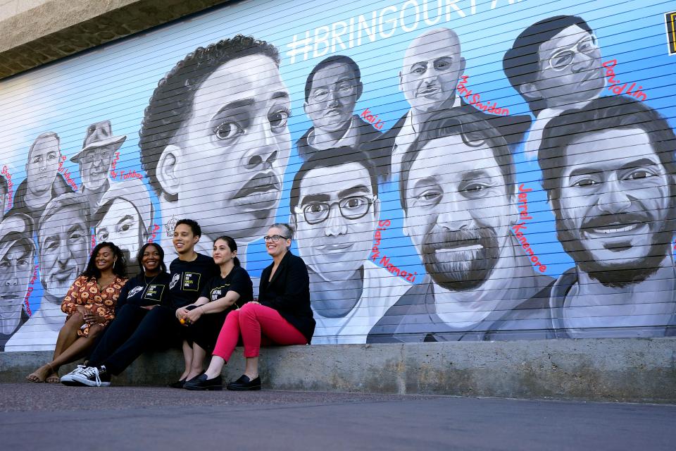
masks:
{"label": "orange floral print outfit of the leftmost seated woman", "polygon": [[[95,277],[89,280],[86,276],[78,277],[73,285],[70,285],[70,290],[61,302],[61,311],[68,314],[65,321],[68,321],[70,316],[77,311],[78,306],[83,306],[85,309],[95,311],[99,316],[103,316],[108,321],[103,323],[102,326],[108,326],[108,323],[115,318],[115,303],[118,302],[120,290],[125,283],[127,283],[126,278],[115,276],[113,281],[101,291]],[[84,329],[77,330],[77,335],[82,337],[89,335],[89,324],[84,323],[84,326]]]}

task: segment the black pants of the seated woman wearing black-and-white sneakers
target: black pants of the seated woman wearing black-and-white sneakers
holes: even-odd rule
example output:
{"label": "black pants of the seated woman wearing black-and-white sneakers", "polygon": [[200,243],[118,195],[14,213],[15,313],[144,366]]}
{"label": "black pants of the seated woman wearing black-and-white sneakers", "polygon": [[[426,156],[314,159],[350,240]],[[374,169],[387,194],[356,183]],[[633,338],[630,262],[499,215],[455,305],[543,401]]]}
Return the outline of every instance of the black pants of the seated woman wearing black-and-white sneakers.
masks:
{"label": "black pants of the seated woman wearing black-and-white sneakers", "polygon": [[111,374],[120,374],[145,351],[180,345],[180,328],[173,309],[158,306],[149,311],[125,304],[89,354],[88,364],[103,364]]}

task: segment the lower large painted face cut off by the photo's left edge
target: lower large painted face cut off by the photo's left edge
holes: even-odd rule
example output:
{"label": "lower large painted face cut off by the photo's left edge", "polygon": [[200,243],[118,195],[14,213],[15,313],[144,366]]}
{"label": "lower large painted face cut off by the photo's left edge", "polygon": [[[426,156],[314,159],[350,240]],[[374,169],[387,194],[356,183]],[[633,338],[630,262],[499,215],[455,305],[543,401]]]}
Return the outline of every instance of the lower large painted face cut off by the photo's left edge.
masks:
{"label": "lower large painted face cut off by the photo's left edge", "polygon": [[0,333],[12,333],[21,318],[23,298],[33,268],[33,249],[27,240],[8,245],[0,257]]}

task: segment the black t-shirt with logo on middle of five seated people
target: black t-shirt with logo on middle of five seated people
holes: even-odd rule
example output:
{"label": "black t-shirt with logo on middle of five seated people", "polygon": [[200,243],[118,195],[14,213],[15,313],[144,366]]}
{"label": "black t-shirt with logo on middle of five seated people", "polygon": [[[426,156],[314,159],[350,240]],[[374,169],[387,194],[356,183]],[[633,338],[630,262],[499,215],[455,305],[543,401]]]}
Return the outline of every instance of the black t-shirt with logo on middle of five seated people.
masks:
{"label": "black t-shirt with logo on middle of five seated people", "polygon": [[169,269],[171,272],[169,293],[171,307],[174,309],[195,302],[208,280],[220,273],[213,259],[204,254],[197,254],[197,258],[193,261],[174,259]]}

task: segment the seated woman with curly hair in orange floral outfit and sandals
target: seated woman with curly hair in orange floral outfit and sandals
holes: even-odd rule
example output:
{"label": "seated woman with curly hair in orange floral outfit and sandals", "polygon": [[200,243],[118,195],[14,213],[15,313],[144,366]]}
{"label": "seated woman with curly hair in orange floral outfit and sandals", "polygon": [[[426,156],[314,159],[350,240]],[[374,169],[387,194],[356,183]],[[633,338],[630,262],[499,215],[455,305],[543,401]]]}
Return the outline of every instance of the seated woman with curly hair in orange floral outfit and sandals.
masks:
{"label": "seated woman with curly hair in orange floral outfit and sandals", "polygon": [[94,247],[87,268],[75,279],[61,303],[68,314],[58,332],[54,359],[26,378],[31,382],[58,383],[58,369],[74,362],[94,345],[97,335],[115,317],[115,303],[127,283],[127,268],[120,248],[112,242]]}

